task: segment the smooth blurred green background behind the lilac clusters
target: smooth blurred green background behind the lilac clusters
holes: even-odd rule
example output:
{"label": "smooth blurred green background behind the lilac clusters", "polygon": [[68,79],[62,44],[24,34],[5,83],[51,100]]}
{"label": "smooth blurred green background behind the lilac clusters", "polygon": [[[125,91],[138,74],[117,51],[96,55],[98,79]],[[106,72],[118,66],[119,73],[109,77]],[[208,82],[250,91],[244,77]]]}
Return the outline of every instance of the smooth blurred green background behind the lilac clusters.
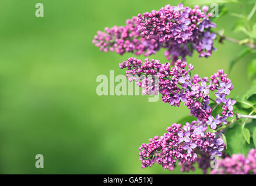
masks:
{"label": "smooth blurred green background behind the lilac clusters", "polygon": [[[44,17],[35,5],[44,5]],[[138,147],[162,135],[167,126],[188,115],[181,106],[145,96],[98,96],[96,77],[115,70],[124,56],[103,53],[92,44],[97,30],[122,26],[138,13],[179,1],[0,1],[0,173],[2,174],[173,174],[155,164],[141,169]],[[227,5],[240,12],[238,5]],[[246,6],[247,12],[251,6]],[[255,17],[254,17],[255,20]],[[235,19],[218,19],[226,35]],[[194,73],[211,76],[228,69],[243,47],[225,41],[211,58],[188,58]],[[143,56],[139,58],[143,59]],[[165,62],[163,51],[151,58]],[[250,86],[246,58],[232,73],[232,96]],[[44,155],[44,169],[36,169],[36,154]],[[195,173],[202,173],[201,170]]]}

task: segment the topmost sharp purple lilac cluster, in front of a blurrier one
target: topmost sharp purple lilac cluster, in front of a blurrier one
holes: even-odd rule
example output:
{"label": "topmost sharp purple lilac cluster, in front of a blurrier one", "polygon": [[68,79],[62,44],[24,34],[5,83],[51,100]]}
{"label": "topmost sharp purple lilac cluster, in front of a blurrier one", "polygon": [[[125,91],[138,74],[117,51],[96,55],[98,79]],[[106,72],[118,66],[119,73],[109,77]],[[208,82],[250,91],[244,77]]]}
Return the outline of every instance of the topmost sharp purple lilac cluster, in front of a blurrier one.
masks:
{"label": "topmost sharp purple lilac cluster, in front of a blurrier one", "polygon": [[166,5],[158,11],[139,14],[138,31],[143,38],[154,38],[159,43],[164,43],[169,53],[172,53],[172,47],[169,46],[183,44],[183,50],[174,56],[183,57],[185,51],[190,55],[192,49],[196,49],[200,57],[208,57],[216,50],[213,47],[216,34],[209,32],[216,24],[209,19],[211,13],[207,13],[208,10],[208,6],[201,10],[199,6],[191,9],[184,7],[182,3],[178,6]]}

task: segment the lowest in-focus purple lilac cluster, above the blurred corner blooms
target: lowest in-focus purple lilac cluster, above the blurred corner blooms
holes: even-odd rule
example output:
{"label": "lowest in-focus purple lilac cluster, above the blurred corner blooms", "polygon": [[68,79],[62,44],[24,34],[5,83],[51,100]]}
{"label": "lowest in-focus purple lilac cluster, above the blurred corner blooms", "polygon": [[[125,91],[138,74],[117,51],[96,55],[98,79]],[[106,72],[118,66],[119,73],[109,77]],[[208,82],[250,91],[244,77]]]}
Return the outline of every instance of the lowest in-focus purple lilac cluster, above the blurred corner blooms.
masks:
{"label": "lowest in-focus purple lilac cluster, above the blurred corner blooms", "polygon": [[222,156],[224,141],[219,133],[212,134],[207,128],[205,121],[192,121],[183,127],[181,124],[172,124],[163,136],[150,138],[149,144],[139,147],[141,167],[144,169],[158,163],[164,169],[173,170],[178,162],[181,171],[189,171],[195,169],[195,162],[202,162],[198,156],[200,153]]}

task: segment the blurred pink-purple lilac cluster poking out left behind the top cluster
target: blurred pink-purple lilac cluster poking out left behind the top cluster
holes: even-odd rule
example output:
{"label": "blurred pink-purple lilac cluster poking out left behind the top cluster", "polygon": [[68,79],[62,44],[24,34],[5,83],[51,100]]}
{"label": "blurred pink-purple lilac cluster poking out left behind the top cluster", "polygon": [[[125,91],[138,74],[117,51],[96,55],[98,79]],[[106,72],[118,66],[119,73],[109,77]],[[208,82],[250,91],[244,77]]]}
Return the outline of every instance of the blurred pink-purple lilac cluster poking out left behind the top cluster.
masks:
{"label": "blurred pink-purple lilac cluster poking out left behind the top cluster", "polygon": [[145,56],[148,56],[159,50],[160,45],[156,40],[145,40],[141,38],[137,30],[139,23],[136,22],[136,17],[128,19],[126,23],[126,26],[107,27],[105,28],[106,33],[97,31],[93,44],[96,47],[100,47],[100,51],[115,51],[121,55],[125,52],[132,52],[135,55],[144,53]]}

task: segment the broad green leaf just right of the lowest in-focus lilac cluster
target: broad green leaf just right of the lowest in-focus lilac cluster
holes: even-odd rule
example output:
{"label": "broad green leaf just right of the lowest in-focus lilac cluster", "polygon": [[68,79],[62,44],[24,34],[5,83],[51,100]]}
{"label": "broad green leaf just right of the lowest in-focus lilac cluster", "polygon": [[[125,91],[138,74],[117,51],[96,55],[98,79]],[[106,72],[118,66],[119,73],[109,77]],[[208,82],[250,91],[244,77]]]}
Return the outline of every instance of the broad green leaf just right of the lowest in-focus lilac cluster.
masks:
{"label": "broad green leaf just right of the lowest in-focus lilac cluster", "polygon": [[234,127],[225,131],[227,144],[229,148],[227,152],[231,156],[233,153],[243,153],[243,130],[238,122],[234,123]]}

